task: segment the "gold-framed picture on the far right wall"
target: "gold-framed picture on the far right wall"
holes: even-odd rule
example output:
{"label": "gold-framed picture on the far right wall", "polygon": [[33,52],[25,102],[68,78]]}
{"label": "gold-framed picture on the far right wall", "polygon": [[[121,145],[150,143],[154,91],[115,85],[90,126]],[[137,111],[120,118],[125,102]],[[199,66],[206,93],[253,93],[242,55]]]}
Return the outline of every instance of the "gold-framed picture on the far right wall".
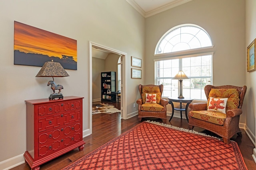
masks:
{"label": "gold-framed picture on the far right wall", "polygon": [[255,70],[255,39],[247,47],[247,72]]}

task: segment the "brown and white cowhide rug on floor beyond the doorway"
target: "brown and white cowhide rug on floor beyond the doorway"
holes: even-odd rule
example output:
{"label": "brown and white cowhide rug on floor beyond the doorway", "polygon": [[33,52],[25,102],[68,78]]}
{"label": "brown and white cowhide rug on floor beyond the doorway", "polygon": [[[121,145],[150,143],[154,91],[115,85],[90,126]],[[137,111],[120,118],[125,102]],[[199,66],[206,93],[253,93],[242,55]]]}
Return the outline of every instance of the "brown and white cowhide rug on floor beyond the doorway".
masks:
{"label": "brown and white cowhide rug on floor beyond the doorway", "polygon": [[111,104],[93,104],[92,105],[92,115],[98,114],[98,113],[106,113],[106,114],[111,114],[111,113],[116,113],[116,112],[121,112],[121,110],[118,110],[116,107],[114,107]]}

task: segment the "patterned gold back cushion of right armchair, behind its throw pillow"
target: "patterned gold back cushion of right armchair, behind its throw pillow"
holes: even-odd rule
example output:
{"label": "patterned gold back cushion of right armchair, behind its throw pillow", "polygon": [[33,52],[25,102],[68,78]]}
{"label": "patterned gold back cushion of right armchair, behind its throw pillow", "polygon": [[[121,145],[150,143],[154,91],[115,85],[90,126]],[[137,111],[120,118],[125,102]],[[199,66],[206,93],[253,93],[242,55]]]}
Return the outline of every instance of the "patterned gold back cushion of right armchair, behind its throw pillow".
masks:
{"label": "patterned gold back cushion of right armchair, behind its throw pillow", "polygon": [[209,106],[210,97],[212,98],[228,98],[226,111],[231,109],[236,109],[239,106],[240,102],[240,93],[236,88],[212,88],[207,101],[207,108]]}

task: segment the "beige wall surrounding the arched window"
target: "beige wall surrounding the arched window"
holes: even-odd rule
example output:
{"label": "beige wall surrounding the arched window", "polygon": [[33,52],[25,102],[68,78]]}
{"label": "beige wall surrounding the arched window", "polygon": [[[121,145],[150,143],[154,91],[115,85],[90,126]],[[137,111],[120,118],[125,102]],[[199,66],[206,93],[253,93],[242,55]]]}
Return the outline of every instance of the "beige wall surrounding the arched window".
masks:
{"label": "beige wall surrounding the arched window", "polygon": [[[154,51],[159,39],[174,26],[192,23],[212,39],[213,85],[246,85],[245,1],[193,0],[146,18],[146,84],[154,83]],[[152,69],[153,68],[153,69]],[[184,94],[183,94],[184,95]],[[249,95],[249,94],[247,94]],[[168,111],[170,111],[168,106]],[[246,101],[240,123],[246,123]]]}

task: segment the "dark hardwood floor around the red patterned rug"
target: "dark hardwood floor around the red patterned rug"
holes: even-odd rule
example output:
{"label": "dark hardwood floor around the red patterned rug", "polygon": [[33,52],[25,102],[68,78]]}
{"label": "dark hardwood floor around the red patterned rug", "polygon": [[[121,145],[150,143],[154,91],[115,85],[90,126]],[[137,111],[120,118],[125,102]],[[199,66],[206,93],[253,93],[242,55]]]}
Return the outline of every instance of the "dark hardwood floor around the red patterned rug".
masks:
{"label": "dark hardwood floor around the red patterned rug", "polygon": [[[110,103],[116,106],[116,108],[120,109],[120,103]],[[170,117],[167,117],[169,120]],[[142,119],[145,121],[146,119]],[[161,119],[154,119],[154,121],[162,122]],[[138,117],[132,117],[130,119],[124,120],[121,119],[120,113],[113,114],[96,114],[92,116],[92,135],[84,137],[84,141],[86,144],[84,145],[84,150],[79,151],[78,149],[74,149],[58,158],[55,158],[45,164],[40,166],[40,170],[59,170],[66,167],[68,164],[76,161],[81,158],[85,154],[88,154],[92,150],[100,147],[104,143],[110,141],[114,137],[117,137],[121,133],[131,129],[132,127],[138,125]],[[183,127],[188,129],[188,122],[186,119],[180,119],[177,117],[173,117],[171,122],[167,121],[167,124],[174,125],[177,127]],[[194,128],[196,131],[207,133],[208,135],[214,135],[209,131],[204,131],[204,129]],[[256,163],[252,158],[254,145],[250,141],[248,135],[242,130],[242,137],[235,135],[232,140],[238,143],[244,161],[248,170],[256,170]],[[11,170],[30,170],[28,164],[21,164],[12,168]]]}

